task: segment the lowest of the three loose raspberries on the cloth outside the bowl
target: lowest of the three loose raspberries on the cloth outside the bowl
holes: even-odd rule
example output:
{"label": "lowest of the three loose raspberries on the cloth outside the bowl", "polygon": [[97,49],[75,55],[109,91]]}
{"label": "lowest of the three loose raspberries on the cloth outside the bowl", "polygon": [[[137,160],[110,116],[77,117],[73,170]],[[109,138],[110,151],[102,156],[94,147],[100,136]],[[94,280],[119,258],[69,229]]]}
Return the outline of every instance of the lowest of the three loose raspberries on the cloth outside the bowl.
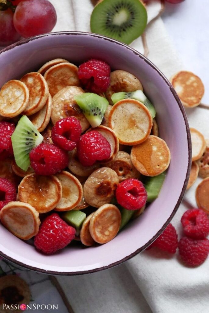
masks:
{"label": "lowest of the three loose raspberries on the cloth outside the bowl", "polygon": [[178,244],[179,254],[188,266],[198,266],[202,264],[209,254],[209,240],[183,237]]}

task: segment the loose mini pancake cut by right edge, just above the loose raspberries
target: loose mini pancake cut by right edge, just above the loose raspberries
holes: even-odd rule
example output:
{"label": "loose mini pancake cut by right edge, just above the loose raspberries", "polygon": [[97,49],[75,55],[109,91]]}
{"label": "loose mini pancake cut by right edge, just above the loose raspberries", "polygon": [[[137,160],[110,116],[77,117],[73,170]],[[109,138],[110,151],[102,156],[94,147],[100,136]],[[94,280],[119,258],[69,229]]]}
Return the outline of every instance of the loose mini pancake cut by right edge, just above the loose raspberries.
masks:
{"label": "loose mini pancake cut by right edge, just above the loose raspberries", "polygon": [[209,214],[209,177],[203,179],[197,186],[196,202],[198,208]]}

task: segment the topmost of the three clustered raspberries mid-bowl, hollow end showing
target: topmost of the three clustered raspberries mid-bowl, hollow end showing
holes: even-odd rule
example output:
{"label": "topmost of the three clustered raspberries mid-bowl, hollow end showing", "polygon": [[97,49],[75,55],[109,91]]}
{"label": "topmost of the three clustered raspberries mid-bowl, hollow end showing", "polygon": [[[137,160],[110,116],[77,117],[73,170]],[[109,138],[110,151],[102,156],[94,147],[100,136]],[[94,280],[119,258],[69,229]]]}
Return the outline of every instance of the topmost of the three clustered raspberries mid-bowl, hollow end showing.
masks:
{"label": "topmost of the three clustered raspberries mid-bowl, hollow end showing", "polygon": [[52,141],[60,148],[71,151],[76,147],[82,132],[81,124],[74,116],[63,118],[52,128]]}

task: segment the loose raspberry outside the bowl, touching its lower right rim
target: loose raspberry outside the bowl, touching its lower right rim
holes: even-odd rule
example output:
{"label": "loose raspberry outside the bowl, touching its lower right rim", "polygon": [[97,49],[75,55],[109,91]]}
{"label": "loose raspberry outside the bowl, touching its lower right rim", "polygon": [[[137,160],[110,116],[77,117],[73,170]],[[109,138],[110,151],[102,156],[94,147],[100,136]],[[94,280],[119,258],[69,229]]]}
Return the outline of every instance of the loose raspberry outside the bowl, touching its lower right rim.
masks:
{"label": "loose raspberry outside the bowl, touching its lower right rim", "polygon": [[157,247],[172,254],[176,253],[178,247],[178,235],[171,223],[168,224],[162,234],[149,246],[149,248],[153,247]]}

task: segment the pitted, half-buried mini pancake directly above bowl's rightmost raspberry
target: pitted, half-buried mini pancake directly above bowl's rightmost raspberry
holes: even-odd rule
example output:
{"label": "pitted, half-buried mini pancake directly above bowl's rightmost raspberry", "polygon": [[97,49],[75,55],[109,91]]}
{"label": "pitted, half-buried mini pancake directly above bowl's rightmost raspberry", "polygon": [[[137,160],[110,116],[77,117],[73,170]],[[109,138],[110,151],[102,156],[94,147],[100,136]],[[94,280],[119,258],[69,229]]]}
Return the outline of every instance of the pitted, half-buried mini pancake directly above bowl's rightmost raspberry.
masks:
{"label": "pitted, half-buried mini pancake directly above bowl's rightmost raspberry", "polygon": [[106,164],[107,167],[112,168],[117,173],[119,182],[127,178],[139,178],[140,173],[136,170],[131,162],[131,156],[125,151],[118,151],[117,156],[110,163]]}

